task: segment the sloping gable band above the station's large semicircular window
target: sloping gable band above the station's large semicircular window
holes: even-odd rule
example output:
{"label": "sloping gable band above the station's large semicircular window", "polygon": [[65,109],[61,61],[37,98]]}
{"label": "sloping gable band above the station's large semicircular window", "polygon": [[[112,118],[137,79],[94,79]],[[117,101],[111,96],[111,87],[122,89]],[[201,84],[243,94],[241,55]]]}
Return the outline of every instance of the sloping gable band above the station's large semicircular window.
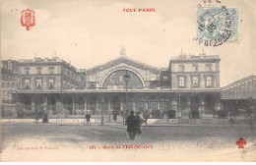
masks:
{"label": "sloping gable band above the station's large semicircular window", "polygon": [[129,66],[141,69],[141,70],[145,70],[145,71],[147,70],[147,71],[150,71],[151,73],[154,73],[154,74],[159,74],[160,73],[160,69],[158,69],[158,68],[155,68],[155,67],[149,66],[147,64],[129,59],[126,56],[122,56],[122,57],[119,57],[117,59],[114,59],[112,61],[109,61],[107,63],[104,63],[102,65],[98,65],[98,66],[96,66],[92,69],[87,70],[87,75],[93,75],[96,72],[100,72],[100,71],[112,68],[112,67],[117,66],[121,63],[124,63],[126,65],[129,65]]}

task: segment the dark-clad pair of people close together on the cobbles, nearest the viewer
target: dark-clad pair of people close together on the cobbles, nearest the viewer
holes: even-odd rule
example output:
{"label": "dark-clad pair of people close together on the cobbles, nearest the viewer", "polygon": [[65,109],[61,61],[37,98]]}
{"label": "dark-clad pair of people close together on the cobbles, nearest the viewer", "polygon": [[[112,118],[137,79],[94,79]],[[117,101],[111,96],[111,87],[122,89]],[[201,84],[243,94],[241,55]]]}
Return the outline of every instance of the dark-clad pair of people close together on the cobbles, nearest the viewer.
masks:
{"label": "dark-clad pair of people close together on the cobbles, nearest the viewer", "polygon": [[141,131],[141,118],[140,113],[137,112],[136,116],[134,116],[134,111],[131,111],[131,114],[127,117],[126,124],[127,124],[127,132],[129,133],[130,139],[134,140],[135,135],[142,134]]}

